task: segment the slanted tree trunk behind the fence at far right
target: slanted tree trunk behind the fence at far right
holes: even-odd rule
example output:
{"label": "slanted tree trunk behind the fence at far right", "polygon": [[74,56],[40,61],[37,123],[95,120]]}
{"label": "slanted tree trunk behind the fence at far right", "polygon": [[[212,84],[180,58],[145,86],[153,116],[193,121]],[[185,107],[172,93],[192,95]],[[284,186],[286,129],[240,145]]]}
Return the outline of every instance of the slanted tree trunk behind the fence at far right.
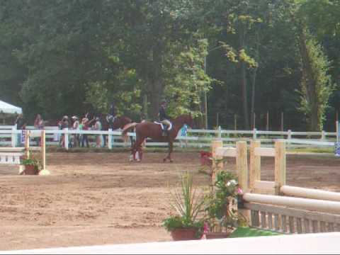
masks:
{"label": "slanted tree trunk behind the fence at far right", "polygon": [[310,131],[319,131],[319,114],[317,105],[317,91],[316,81],[314,81],[310,56],[307,50],[307,38],[305,29],[300,27],[299,33],[300,54],[302,60],[302,79],[305,83],[305,98],[309,106],[309,113],[307,113],[308,125]]}

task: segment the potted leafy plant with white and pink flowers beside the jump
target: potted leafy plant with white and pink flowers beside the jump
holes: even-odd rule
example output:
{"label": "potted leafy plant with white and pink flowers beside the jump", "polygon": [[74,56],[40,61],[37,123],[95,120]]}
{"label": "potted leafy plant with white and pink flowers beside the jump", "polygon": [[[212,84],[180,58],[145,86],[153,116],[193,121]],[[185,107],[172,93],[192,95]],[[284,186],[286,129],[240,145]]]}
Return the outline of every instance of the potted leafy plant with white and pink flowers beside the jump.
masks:
{"label": "potted leafy plant with white and pink flowers beside the jump", "polygon": [[228,171],[220,171],[210,193],[205,198],[205,212],[208,226],[205,237],[224,238],[237,227],[237,196],[240,190],[237,178]]}

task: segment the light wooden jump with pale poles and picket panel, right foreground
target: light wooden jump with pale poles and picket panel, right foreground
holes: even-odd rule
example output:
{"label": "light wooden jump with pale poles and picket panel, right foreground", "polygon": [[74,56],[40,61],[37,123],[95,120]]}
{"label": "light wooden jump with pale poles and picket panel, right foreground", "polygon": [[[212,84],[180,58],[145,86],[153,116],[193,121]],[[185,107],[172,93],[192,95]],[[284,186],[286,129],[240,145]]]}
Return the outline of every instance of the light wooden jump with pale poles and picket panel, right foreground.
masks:
{"label": "light wooden jump with pale poles and picket panel, right foreground", "polygon": [[[236,149],[222,147],[219,140],[212,142],[214,159],[237,159],[237,176],[251,226],[299,234],[340,231],[340,193],[285,185],[285,155],[284,141],[277,141],[274,148],[261,148],[259,141],[251,141],[248,172],[246,142],[237,142]],[[274,181],[261,181],[261,157],[275,158]],[[215,173],[222,169],[222,163],[212,167]]]}

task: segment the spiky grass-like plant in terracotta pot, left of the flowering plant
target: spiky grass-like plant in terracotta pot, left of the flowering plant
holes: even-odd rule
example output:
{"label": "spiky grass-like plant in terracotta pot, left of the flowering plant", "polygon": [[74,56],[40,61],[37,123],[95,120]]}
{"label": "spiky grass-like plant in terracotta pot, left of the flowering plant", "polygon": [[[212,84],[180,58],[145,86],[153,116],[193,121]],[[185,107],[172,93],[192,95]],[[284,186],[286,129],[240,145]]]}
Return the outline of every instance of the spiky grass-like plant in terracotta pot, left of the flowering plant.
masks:
{"label": "spiky grass-like plant in terracotta pot, left of the flowering plant", "polygon": [[181,189],[175,189],[172,195],[171,207],[176,215],[167,217],[162,225],[171,232],[174,241],[199,239],[203,230],[204,220],[198,220],[200,212],[204,212],[203,196],[198,196],[193,188],[191,174],[181,176]]}

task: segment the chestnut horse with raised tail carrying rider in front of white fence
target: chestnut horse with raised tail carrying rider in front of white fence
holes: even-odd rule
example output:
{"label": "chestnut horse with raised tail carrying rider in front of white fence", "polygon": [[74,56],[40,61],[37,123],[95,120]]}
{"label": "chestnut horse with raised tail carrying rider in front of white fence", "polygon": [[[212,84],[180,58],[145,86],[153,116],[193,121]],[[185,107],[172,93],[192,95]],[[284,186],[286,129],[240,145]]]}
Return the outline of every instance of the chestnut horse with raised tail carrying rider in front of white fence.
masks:
{"label": "chestnut horse with raised tail carrying rider in front of white fence", "polygon": [[125,126],[123,128],[122,135],[125,136],[128,130],[135,128],[136,132],[136,142],[135,145],[131,147],[131,155],[134,160],[136,160],[136,152],[138,152],[139,159],[142,160],[142,142],[147,137],[150,137],[152,140],[156,142],[168,142],[169,143],[169,152],[167,157],[163,159],[163,162],[166,162],[166,159],[169,159],[170,162],[172,162],[171,159],[171,152],[173,149],[174,140],[177,137],[177,134],[179,130],[183,127],[184,124],[193,127],[193,118],[191,115],[184,114],[180,115],[179,117],[175,118],[171,121],[172,128],[169,130],[169,135],[162,136],[162,127],[161,125],[157,123],[151,123],[151,122],[144,122],[144,123],[131,123]]}

